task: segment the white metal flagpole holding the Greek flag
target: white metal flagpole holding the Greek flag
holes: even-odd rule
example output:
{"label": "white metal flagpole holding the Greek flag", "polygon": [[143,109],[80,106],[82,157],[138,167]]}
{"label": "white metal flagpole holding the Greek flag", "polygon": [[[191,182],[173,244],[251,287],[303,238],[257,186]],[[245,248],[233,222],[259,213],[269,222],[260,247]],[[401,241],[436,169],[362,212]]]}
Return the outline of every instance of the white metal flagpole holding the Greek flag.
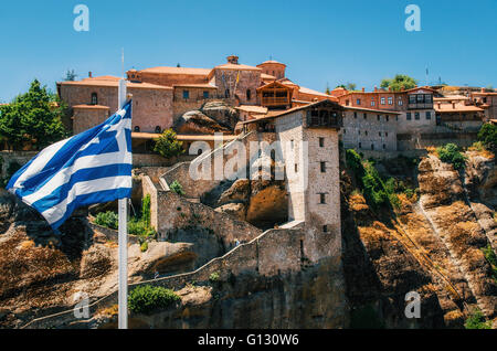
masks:
{"label": "white metal flagpole holding the Greek flag", "polygon": [[[126,81],[119,81],[118,108],[126,103]],[[119,329],[128,329],[128,199],[119,199],[119,277],[118,277],[118,319]]]}

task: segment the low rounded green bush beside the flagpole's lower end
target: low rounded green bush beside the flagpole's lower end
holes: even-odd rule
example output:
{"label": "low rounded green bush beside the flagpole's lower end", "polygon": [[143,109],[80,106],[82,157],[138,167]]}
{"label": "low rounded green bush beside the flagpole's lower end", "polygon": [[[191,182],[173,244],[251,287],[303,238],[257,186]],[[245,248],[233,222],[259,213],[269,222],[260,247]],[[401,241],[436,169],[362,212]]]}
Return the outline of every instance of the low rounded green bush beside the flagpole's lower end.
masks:
{"label": "low rounded green bush beside the flagpole's lower end", "polygon": [[170,307],[181,298],[171,289],[138,286],[129,294],[129,310],[134,313],[150,313],[156,309]]}

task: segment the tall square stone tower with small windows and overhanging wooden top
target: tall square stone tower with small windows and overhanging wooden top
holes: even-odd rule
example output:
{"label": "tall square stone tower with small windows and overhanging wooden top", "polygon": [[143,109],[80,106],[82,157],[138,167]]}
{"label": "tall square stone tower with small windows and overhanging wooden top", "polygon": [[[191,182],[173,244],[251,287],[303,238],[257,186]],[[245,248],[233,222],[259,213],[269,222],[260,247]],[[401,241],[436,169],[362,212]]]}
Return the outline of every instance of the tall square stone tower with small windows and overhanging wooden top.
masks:
{"label": "tall square stone tower with small windows and overhanging wooden top", "polygon": [[288,220],[305,227],[310,262],[341,254],[338,138],[343,107],[322,100],[279,114],[275,120],[287,173]]}

